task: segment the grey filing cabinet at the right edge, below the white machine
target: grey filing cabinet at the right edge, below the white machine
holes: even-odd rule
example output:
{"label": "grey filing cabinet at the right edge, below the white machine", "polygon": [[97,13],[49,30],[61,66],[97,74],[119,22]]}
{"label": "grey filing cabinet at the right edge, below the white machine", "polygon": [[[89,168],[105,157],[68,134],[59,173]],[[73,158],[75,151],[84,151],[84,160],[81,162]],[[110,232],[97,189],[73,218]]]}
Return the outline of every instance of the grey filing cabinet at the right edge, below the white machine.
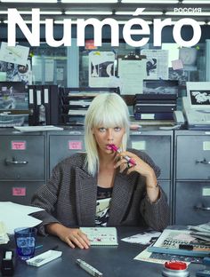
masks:
{"label": "grey filing cabinet at the right edge, below the white machine", "polygon": [[174,223],[205,223],[210,217],[210,131],[175,131],[174,149]]}

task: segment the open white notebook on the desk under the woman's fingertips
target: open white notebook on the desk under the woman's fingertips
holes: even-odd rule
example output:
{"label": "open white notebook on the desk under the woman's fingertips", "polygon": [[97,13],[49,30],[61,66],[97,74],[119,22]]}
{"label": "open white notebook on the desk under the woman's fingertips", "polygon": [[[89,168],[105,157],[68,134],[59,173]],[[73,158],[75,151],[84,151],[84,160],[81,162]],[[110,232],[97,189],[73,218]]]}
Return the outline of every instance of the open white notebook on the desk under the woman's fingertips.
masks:
{"label": "open white notebook on the desk under the woman's fingertips", "polygon": [[80,227],[86,233],[91,245],[117,246],[117,229],[115,227]]}

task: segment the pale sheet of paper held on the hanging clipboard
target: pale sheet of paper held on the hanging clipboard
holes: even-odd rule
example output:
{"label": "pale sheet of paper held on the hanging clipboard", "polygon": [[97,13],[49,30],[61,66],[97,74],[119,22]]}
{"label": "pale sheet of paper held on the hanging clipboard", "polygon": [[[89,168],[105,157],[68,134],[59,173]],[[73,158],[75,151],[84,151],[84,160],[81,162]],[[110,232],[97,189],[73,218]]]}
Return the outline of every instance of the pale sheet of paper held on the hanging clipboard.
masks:
{"label": "pale sheet of paper held on the hanging clipboard", "polygon": [[118,75],[122,80],[121,94],[142,93],[143,79],[146,79],[147,59],[118,59]]}

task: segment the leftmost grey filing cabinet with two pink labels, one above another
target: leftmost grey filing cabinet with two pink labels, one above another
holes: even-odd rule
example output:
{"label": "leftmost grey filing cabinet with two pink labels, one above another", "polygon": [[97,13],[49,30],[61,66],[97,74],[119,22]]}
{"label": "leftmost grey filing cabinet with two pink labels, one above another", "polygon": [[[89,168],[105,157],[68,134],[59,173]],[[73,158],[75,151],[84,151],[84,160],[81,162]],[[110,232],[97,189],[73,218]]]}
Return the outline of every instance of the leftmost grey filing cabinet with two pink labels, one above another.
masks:
{"label": "leftmost grey filing cabinet with two pink labels, one above another", "polygon": [[0,201],[29,204],[46,178],[44,133],[2,130],[0,153]]}

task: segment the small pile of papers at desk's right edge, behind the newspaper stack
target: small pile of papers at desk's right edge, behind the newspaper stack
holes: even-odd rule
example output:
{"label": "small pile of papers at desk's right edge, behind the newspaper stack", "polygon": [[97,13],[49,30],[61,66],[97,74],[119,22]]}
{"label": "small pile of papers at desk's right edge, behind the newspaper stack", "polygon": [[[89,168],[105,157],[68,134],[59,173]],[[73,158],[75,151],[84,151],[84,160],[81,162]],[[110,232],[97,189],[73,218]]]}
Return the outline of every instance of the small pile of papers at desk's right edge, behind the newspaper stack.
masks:
{"label": "small pile of papers at desk's right edge, behind the newspaper stack", "polygon": [[204,241],[210,241],[210,222],[198,226],[189,226],[190,234]]}

